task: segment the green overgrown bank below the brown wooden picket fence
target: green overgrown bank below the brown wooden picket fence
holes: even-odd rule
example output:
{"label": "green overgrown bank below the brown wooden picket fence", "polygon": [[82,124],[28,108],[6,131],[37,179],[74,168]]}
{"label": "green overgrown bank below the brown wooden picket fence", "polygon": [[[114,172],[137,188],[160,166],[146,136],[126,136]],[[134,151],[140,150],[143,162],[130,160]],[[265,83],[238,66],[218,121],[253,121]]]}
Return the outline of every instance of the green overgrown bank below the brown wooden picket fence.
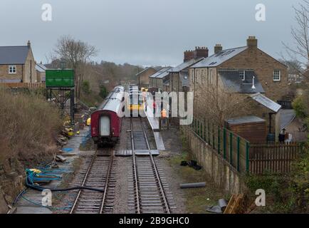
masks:
{"label": "green overgrown bank below the brown wooden picket fence", "polygon": [[292,172],[286,175],[249,175],[246,185],[251,193],[266,192],[266,206],[256,207],[256,213],[309,213],[309,149],[293,164]]}

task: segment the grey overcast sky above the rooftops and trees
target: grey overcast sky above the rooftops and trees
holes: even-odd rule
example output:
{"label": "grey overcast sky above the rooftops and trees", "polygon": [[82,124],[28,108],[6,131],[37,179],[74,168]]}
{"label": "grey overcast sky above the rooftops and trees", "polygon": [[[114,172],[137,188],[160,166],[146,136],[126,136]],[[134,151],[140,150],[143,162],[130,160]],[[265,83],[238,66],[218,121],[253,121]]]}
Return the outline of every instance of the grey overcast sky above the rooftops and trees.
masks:
{"label": "grey overcast sky above the rooftops and trees", "polygon": [[[245,46],[248,36],[279,58],[281,41],[293,43],[293,5],[300,0],[1,0],[0,46],[26,45],[36,61],[62,35],[86,41],[100,51],[95,61],[143,66],[177,65],[183,51],[216,43]],[[52,21],[42,21],[42,5],[52,6]],[[266,21],[255,19],[265,4]]]}

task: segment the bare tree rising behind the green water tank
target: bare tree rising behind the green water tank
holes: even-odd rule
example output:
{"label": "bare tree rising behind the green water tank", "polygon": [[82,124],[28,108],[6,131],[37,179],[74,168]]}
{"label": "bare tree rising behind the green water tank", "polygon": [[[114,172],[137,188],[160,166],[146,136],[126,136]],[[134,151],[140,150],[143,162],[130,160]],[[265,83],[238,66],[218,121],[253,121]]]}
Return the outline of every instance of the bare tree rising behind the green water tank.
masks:
{"label": "bare tree rising behind the green water tank", "polygon": [[94,46],[71,36],[62,36],[58,39],[53,50],[53,59],[63,59],[75,71],[76,96],[80,98],[80,87],[85,76],[85,66],[98,53]]}

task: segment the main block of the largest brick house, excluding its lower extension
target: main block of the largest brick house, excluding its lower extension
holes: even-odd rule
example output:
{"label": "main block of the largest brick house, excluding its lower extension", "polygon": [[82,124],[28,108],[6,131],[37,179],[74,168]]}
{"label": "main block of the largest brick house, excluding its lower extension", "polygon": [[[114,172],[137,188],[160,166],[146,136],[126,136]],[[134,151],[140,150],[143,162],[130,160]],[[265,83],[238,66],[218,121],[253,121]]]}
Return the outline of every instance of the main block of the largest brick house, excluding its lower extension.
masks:
{"label": "main block of the largest brick house, excluding its lower extension", "polygon": [[[219,83],[219,70],[239,71],[239,78],[246,80],[246,72],[253,71],[261,82],[265,95],[271,100],[281,100],[288,89],[288,68],[258,48],[255,36],[249,36],[247,45],[223,50],[220,44],[214,47],[214,55],[190,67],[190,81],[195,83]],[[205,80],[205,81],[203,81]]]}

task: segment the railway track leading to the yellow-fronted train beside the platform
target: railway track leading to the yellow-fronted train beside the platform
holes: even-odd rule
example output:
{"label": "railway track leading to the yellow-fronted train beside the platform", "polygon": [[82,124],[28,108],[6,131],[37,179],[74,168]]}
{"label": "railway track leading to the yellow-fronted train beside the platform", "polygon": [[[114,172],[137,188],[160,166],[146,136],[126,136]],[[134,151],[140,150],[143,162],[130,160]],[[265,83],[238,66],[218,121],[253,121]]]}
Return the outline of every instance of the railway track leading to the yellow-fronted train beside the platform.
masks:
{"label": "railway track leading to the yellow-fronted train beside the platform", "polygon": [[[129,172],[129,209],[137,214],[169,214],[174,208],[172,195],[168,192],[161,167],[152,156],[142,118],[131,118],[130,121],[132,170]],[[137,156],[136,150],[145,150],[145,156]]]}

